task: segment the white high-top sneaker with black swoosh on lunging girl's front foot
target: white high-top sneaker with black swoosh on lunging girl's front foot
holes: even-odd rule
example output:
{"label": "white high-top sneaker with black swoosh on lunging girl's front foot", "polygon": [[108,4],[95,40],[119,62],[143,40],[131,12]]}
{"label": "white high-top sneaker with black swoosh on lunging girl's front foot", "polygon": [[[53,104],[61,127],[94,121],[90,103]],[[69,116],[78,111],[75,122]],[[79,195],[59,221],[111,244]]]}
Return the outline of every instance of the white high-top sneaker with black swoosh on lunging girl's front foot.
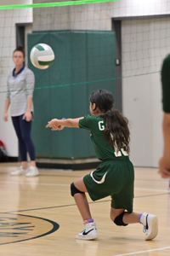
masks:
{"label": "white high-top sneaker with black swoosh on lunging girl's front foot", "polygon": [[98,232],[94,222],[84,224],[85,230],[82,230],[76,237],[82,240],[94,240],[98,238]]}

